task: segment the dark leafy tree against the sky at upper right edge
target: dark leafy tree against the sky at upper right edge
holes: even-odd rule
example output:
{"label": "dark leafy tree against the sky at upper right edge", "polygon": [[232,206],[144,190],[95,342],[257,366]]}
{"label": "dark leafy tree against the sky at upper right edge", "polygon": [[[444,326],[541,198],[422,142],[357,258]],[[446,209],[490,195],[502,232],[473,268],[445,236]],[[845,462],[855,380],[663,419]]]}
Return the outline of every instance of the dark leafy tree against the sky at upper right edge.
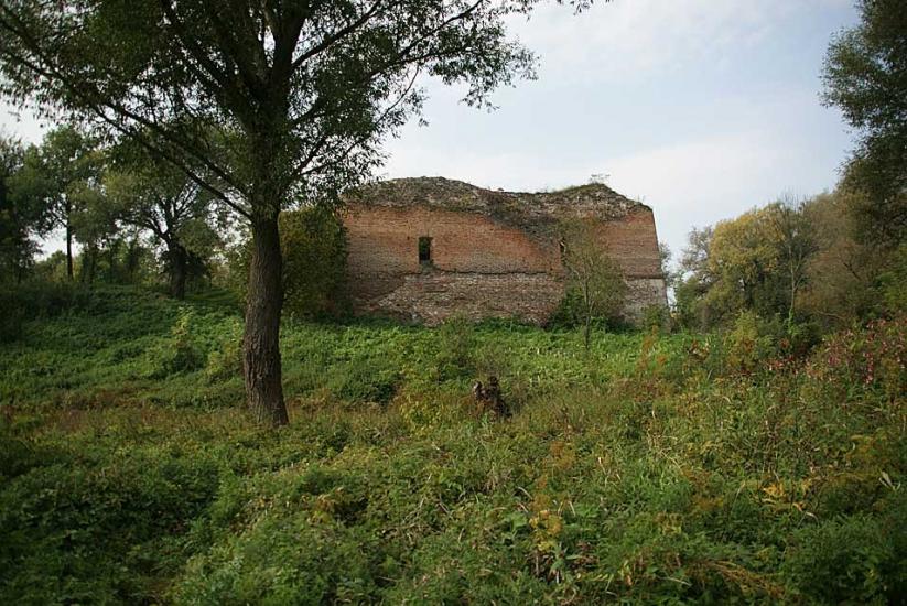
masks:
{"label": "dark leafy tree against the sky at upper right edge", "polygon": [[907,2],[859,0],[860,23],[825,56],[824,101],[860,133],[844,186],[863,241],[894,248],[907,237]]}

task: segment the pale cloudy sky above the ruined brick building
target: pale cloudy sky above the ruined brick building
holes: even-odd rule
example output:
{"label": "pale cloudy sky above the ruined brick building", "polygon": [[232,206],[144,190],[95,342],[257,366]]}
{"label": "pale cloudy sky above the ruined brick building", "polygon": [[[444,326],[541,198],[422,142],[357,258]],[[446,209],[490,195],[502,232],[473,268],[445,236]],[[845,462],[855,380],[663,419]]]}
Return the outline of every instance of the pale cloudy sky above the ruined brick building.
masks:
{"label": "pale cloudy sky above the ruined brick building", "polygon": [[[855,21],[851,0],[542,6],[511,23],[539,79],[496,93],[492,112],[426,82],[429,126],[388,142],[382,175],[541,191],[604,174],[655,209],[677,253],[693,226],[834,186],[851,137],[821,106],[819,75],[832,33]],[[33,119],[0,120],[41,137]]]}

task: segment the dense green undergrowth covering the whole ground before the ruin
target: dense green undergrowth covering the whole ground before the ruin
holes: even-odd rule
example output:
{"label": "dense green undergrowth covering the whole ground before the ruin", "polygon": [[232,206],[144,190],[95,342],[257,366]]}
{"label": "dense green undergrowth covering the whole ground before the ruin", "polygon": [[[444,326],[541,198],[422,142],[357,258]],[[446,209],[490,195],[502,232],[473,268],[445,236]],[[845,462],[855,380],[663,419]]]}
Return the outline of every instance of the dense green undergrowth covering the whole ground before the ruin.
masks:
{"label": "dense green undergrowth covering the whole ground before the ruin", "polygon": [[[102,290],[0,347],[0,603],[896,603],[905,321],[731,337],[241,320]],[[39,314],[41,315],[41,314]],[[509,420],[478,414],[500,377]]]}

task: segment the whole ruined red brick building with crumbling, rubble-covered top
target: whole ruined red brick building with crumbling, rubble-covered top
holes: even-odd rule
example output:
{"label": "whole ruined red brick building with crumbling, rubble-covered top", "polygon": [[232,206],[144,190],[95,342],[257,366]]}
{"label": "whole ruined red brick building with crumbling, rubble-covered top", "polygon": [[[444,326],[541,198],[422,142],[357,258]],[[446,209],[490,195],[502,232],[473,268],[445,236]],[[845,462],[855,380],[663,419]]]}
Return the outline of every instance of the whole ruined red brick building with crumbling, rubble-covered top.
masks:
{"label": "whole ruined red brick building with crumbling, rubble-covered top", "polygon": [[564,294],[563,219],[592,219],[624,271],[625,314],[667,305],[652,210],[605,185],[522,194],[440,177],[386,181],[348,199],[355,311],[436,324],[453,314],[544,323]]}

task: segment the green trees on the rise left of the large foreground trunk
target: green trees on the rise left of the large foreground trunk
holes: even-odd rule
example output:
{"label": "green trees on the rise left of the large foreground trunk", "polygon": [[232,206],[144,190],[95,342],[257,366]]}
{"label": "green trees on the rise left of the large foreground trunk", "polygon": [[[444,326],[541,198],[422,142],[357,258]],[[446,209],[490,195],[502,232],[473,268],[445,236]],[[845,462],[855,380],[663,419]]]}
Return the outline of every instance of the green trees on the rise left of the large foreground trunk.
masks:
{"label": "green trees on the rise left of the large foreground trunk", "polygon": [[[63,126],[40,145],[0,140],[0,281],[148,283],[176,297],[209,279],[229,215],[185,173],[128,143]],[[65,248],[36,261],[39,240]]]}

